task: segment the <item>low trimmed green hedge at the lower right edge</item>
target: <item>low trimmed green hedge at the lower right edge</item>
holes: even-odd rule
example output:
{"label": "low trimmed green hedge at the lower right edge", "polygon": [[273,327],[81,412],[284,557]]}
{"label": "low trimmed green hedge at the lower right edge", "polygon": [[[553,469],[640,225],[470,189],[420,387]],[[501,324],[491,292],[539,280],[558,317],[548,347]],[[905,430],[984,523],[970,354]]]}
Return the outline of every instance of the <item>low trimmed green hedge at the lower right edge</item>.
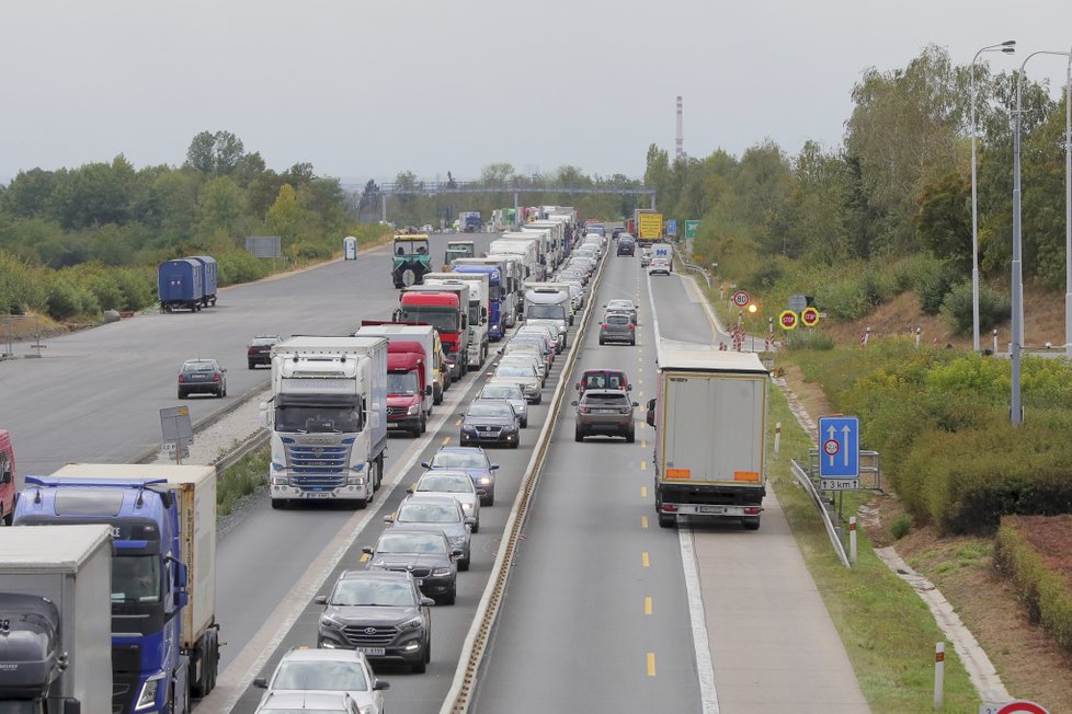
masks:
{"label": "low trimmed green hedge at the lower right edge", "polygon": [[1065,652],[1072,652],[1072,592],[1063,575],[1050,569],[1045,557],[1019,533],[1018,525],[1016,518],[1002,519],[994,544],[994,567],[1012,578],[1028,618],[1041,623]]}

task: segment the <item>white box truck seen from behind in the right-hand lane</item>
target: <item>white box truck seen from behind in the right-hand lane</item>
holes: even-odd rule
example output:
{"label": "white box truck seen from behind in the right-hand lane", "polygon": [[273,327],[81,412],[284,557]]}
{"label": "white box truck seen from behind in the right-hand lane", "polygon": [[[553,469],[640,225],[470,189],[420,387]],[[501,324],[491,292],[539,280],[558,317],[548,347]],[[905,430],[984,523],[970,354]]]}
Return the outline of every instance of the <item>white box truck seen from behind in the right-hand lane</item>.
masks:
{"label": "white box truck seen from behind in the right-hand lane", "polygon": [[660,339],[654,498],[659,525],[677,516],[741,521],[760,528],[766,495],[771,377],[754,353]]}

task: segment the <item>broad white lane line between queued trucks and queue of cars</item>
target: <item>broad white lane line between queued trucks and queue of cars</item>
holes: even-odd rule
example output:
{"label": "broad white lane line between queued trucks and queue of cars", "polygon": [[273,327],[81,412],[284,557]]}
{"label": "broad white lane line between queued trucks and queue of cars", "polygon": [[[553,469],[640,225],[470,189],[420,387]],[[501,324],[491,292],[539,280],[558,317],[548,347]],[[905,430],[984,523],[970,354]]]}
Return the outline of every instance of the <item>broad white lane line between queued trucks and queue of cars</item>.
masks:
{"label": "broad white lane line between queued trucks and queue of cars", "polygon": [[[448,402],[444,399],[444,404],[451,407],[460,403],[475,383],[476,380],[466,385],[466,389],[456,392],[453,401]],[[286,594],[272,614],[265,620],[264,626],[253,635],[249,644],[242,648],[242,652],[239,653],[227,669],[220,672],[216,689],[197,705],[197,714],[227,714],[235,707],[238,700],[241,699],[246,689],[250,686],[250,682],[264,668],[264,664],[278,648],[280,643],[283,642],[286,634],[290,632],[294,623],[305,610],[306,604],[312,600],[318,590],[323,588],[323,584],[331,575],[331,572],[353,546],[354,541],[357,540],[357,536],[361,534],[368,521],[379,511],[379,503],[394,493],[398,484],[401,483],[406,474],[417,463],[417,460],[424,451],[424,447],[431,444],[435,434],[453,416],[452,408],[443,410],[443,414],[435,421],[435,424],[429,429],[427,434],[410,445],[410,448],[413,449],[412,456],[410,456],[401,468],[396,467],[398,471],[390,481],[385,477],[384,484],[379,490],[378,502],[365,510],[355,513],[343,523],[335,537],[321,551],[323,554],[330,553],[331,555],[317,557],[309,564],[306,572],[298,578],[297,585]]]}

